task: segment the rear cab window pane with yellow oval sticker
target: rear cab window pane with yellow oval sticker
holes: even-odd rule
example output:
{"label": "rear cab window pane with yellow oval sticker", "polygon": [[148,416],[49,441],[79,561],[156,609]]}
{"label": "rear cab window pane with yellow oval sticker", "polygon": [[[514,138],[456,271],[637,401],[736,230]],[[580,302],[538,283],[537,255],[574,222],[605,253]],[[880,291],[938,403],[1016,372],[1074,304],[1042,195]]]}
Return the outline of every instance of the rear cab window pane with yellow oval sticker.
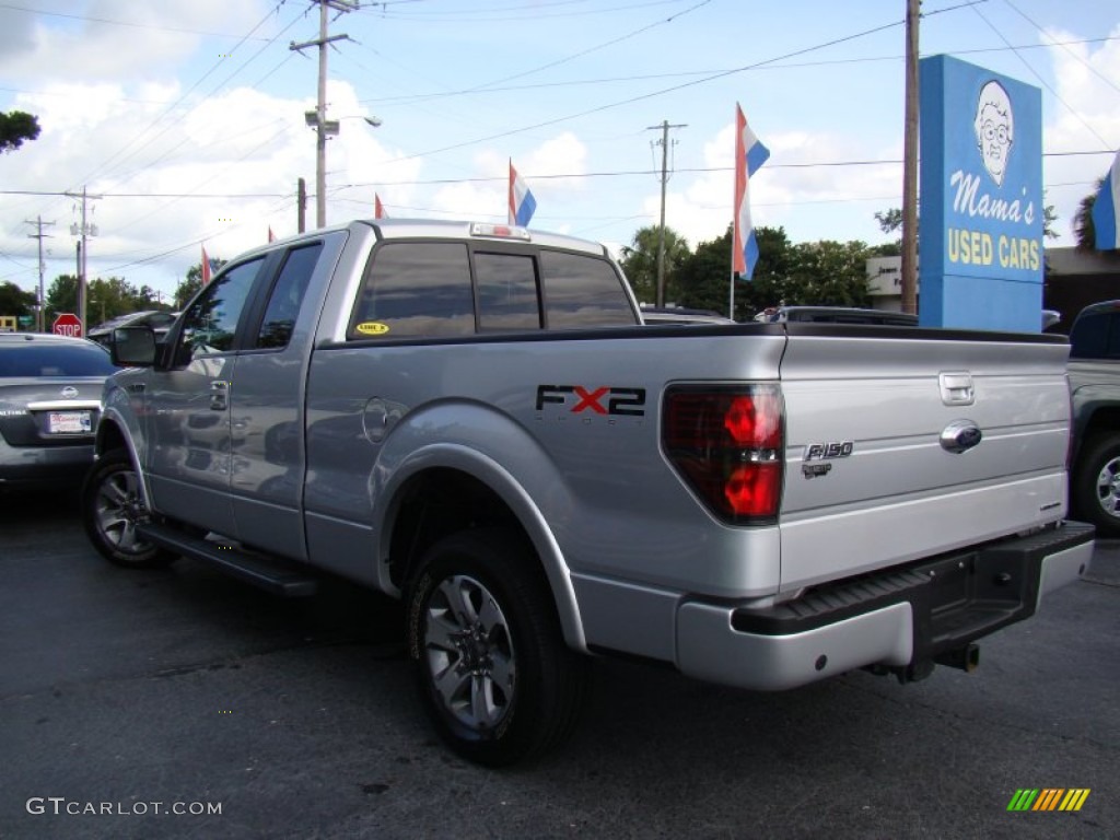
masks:
{"label": "rear cab window pane with yellow oval sticker", "polygon": [[390,242],[374,251],[349,338],[461,336],[474,332],[466,243]]}

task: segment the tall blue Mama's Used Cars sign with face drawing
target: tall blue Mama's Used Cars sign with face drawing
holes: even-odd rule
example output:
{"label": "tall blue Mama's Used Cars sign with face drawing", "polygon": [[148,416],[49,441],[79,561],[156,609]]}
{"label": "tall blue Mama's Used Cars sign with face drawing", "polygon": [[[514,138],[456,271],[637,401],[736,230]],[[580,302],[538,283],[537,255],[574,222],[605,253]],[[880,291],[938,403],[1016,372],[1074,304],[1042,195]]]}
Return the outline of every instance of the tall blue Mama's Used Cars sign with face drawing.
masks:
{"label": "tall blue Mama's Used Cars sign with face drawing", "polygon": [[1042,92],[950,56],[918,71],[918,321],[1037,333]]}

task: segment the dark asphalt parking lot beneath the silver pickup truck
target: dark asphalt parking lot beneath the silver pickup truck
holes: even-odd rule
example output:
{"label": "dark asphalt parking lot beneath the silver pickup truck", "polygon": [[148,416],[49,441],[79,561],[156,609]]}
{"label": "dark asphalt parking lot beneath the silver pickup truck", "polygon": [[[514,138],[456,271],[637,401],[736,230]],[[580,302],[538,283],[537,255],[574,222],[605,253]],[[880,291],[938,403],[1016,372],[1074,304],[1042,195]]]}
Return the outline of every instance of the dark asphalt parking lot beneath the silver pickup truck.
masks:
{"label": "dark asphalt parking lot beneath the silver pickup truck", "polygon": [[2,838],[1120,836],[1120,542],[974,674],[753,694],[599,662],[572,743],[502,772],[433,739],[376,596],[116,569],[69,496],[0,496],[0,558]]}

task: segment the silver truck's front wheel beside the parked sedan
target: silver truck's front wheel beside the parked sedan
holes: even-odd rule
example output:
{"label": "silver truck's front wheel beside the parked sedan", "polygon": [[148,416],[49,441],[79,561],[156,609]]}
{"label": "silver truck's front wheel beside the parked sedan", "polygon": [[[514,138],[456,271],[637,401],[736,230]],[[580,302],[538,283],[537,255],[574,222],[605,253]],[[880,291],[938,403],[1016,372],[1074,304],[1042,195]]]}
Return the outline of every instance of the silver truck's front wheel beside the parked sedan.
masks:
{"label": "silver truck's front wheel beside the parked sedan", "polygon": [[129,569],[167,566],[175,554],[141,540],[137,524],[148,519],[140,478],[123,449],[105,452],[82,487],[82,524],[97,552]]}

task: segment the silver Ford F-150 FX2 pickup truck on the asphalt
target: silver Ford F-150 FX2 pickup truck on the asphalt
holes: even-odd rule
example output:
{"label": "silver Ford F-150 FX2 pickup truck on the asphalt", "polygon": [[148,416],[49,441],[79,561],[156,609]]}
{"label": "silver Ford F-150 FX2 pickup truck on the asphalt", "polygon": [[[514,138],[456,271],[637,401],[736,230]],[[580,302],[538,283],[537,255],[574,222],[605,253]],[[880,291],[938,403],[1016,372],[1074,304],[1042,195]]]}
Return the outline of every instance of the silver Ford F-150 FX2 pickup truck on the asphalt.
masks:
{"label": "silver Ford F-150 FX2 pickup truck on the asphalt", "polygon": [[97,550],[402,598],[485,764],[557,744],[599,654],[762,690],[971,670],[1092,553],[1060,337],[644,325],[601,245],[394,220],[246,253],[111,345]]}

